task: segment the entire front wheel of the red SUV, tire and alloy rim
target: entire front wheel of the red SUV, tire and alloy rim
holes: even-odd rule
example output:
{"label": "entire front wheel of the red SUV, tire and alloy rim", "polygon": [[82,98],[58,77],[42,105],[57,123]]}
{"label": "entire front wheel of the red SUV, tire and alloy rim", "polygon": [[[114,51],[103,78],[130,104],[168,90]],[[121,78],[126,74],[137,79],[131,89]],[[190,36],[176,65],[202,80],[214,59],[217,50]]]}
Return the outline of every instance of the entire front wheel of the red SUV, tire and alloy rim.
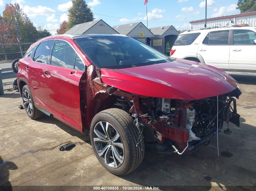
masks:
{"label": "entire front wheel of the red SUV, tire and alloy rim", "polygon": [[98,161],[112,174],[130,173],[144,158],[144,141],[136,147],[138,130],[124,110],[113,108],[95,115],[90,137]]}

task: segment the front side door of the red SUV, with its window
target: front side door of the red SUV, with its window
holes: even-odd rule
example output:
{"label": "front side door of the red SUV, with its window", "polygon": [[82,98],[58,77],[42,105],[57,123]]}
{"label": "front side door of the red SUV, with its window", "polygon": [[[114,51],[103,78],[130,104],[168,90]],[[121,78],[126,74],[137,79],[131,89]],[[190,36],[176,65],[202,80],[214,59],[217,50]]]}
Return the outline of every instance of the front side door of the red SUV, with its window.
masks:
{"label": "front side door of the red SUV, with its window", "polygon": [[51,65],[43,72],[48,87],[45,104],[55,117],[79,131],[82,131],[79,84],[85,74],[85,64],[72,46],[56,40]]}

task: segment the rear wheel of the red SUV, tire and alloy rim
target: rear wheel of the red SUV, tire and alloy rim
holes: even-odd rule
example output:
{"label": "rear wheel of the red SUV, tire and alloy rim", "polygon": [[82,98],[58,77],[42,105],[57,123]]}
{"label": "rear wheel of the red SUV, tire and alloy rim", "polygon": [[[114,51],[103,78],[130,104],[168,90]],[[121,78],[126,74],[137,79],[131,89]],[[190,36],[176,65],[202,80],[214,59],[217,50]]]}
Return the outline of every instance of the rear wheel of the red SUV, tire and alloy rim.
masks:
{"label": "rear wheel of the red SUV, tire and alloy rim", "polygon": [[[27,93],[29,96],[27,96]],[[27,99],[27,98],[29,98],[29,99]],[[28,85],[25,85],[22,88],[22,100],[23,100],[23,104],[24,104],[26,113],[28,114],[28,116],[31,119],[38,119],[44,115],[44,113],[42,111],[38,110],[35,107],[33,96],[32,96],[32,93],[31,93]],[[28,100],[28,102],[26,100]],[[31,107],[30,107],[30,105],[31,105]],[[31,108],[31,110],[29,109],[29,107]]]}

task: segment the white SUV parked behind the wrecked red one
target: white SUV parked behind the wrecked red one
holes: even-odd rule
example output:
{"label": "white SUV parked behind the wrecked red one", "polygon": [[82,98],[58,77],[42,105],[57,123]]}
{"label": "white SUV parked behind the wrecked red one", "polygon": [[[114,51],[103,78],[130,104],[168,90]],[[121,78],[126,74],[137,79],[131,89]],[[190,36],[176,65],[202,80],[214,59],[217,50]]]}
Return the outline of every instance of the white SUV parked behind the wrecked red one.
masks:
{"label": "white SUV parked behind the wrecked red one", "polygon": [[231,74],[256,75],[256,27],[188,30],[177,37],[170,56]]}

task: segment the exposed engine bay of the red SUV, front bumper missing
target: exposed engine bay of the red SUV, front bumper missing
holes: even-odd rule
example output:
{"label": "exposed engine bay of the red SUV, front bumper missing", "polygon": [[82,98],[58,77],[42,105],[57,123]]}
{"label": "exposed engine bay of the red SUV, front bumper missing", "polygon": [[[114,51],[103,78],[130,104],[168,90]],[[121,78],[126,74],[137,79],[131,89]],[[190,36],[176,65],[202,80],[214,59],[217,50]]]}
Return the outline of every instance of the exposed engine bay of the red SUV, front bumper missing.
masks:
{"label": "exposed engine bay of the red SUV, front bumper missing", "polygon": [[[157,97],[137,97],[128,101],[122,96],[117,98],[115,106],[135,118],[139,139],[157,142],[160,153],[182,154],[191,153],[198,145],[208,145],[210,139],[221,131],[224,122],[240,126],[240,115],[233,98],[240,94],[236,88],[228,94],[194,101]],[[227,129],[224,132],[229,134],[231,131]]]}

